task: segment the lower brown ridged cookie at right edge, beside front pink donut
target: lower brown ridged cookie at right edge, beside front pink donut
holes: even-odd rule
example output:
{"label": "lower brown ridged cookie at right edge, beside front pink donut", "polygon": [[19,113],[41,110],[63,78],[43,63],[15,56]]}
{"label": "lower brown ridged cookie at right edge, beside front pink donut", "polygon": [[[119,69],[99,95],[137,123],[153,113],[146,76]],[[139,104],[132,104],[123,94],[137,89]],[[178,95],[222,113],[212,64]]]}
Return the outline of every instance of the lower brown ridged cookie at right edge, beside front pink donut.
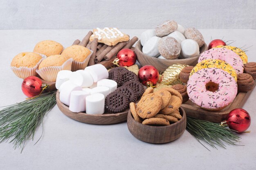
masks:
{"label": "lower brown ridged cookie at right edge, beside front pink donut", "polygon": [[241,73],[237,76],[238,92],[251,91],[254,87],[254,79],[247,73]]}

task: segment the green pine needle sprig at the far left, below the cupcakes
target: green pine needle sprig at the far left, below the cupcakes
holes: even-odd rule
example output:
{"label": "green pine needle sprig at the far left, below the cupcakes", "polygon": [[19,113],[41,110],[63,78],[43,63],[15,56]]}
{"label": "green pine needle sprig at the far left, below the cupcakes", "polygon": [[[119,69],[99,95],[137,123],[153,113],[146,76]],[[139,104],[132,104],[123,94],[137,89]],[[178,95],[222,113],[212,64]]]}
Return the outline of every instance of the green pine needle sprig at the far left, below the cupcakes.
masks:
{"label": "green pine needle sprig at the far left, below the cupcakes", "polygon": [[10,140],[9,143],[13,143],[15,149],[22,147],[23,150],[26,140],[34,139],[36,128],[43,123],[43,117],[55,104],[56,91],[0,110],[0,143]]}

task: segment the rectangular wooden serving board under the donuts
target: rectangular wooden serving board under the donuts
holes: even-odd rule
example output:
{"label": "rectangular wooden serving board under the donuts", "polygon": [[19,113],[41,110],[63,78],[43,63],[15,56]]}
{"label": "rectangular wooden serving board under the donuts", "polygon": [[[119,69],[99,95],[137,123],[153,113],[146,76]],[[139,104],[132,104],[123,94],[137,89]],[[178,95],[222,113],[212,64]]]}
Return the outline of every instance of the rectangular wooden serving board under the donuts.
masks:
{"label": "rectangular wooden serving board under the donuts", "polygon": [[[254,80],[254,87],[256,80]],[[249,98],[252,91],[249,92],[240,92],[236,95],[234,101],[229,104],[226,108],[218,111],[204,110],[199,106],[195,105],[190,100],[182,104],[182,108],[185,110],[186,115],[190,117],[195,117],[200,120],[207,120],[215,123],[220,123],[223,120],[227,119],[229,112],[235,108],[242,108],[247,99]]]}

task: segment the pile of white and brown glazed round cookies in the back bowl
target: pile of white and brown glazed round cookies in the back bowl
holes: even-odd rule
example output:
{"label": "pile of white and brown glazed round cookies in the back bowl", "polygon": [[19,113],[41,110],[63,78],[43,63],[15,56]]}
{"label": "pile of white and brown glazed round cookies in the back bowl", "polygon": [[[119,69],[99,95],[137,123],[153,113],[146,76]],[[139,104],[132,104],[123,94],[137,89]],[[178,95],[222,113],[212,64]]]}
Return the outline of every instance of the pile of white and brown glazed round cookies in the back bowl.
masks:
{"label": "pile of white and brown glazed round cookies in the back bowl", "polygon": [[184,29],[174,20],[167,20],[141,34],[142,52],[160,59],[183,59],[199,55],[204,44],[202,34],[195,28]]}

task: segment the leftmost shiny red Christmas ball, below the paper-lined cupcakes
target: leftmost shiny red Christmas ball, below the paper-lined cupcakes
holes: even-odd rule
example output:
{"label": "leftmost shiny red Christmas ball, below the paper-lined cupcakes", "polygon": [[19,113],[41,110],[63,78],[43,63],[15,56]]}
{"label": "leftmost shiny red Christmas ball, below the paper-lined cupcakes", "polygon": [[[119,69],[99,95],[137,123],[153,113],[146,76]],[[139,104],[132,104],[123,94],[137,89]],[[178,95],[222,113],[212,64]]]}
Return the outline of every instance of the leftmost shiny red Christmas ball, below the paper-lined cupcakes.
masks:
{"label": "leftmost shiny red Christmas ball, below the paper-lined cupcakes", "polygon": [[36,76],[25,78],[21,84],[21,90],[27,97],[34,97],[42,91],[42,81]]}

